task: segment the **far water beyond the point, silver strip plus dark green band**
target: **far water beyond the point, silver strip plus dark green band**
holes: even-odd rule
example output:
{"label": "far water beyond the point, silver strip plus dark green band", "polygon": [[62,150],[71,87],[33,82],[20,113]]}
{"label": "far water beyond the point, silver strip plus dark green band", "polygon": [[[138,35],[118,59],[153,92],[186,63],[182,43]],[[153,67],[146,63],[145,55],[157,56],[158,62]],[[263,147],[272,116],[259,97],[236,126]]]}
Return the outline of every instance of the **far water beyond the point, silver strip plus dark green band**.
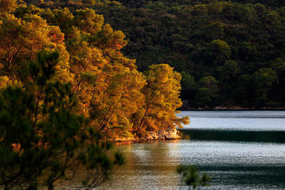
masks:
{"label": "far water beyond the point, silver strip plus dark green band", "polygon": [[284,111],[184,111],[190,125],[182,132],[191,139],[285,143]]}

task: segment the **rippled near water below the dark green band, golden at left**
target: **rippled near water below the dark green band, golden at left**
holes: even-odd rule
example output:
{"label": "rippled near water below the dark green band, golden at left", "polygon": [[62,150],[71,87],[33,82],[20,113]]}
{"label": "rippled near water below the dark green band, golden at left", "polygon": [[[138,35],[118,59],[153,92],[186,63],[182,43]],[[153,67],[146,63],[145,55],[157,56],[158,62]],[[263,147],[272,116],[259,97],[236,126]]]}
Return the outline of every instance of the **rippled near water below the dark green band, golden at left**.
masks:
{"label": "rippled near water below the dark green band, golden at left", "polygon": [[180,189],[179,164],[212,176],[212,186],[202,189],[285,189],[285,144],[184,139],[118,148],[129,162],[100,189]]}

